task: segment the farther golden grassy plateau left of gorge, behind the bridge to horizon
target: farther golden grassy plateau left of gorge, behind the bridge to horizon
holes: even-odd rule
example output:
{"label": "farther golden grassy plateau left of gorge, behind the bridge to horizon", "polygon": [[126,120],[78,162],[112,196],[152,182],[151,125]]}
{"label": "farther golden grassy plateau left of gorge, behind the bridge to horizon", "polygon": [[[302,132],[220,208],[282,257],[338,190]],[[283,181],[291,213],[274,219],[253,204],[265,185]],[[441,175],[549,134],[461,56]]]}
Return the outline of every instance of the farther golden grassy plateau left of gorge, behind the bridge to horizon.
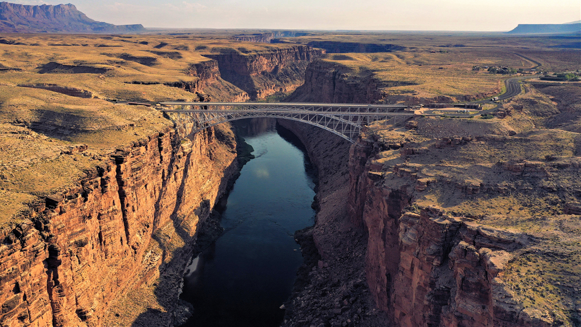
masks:
{"label": "farther golden grassy plateau left of gorge, behind the bridge to horizon", "polygon": [[[0,44],[2,84],[58,84],[91,91],[103,99],[191,100],[193,95],[167,83],[195,83],[187,75],[192,64],[210,60],[204,55],[236,51],[252,55],[259,51],[293,45],[252,44],[226,37],[171,37],[169,35],[5,35],[8,41],[26,45]],[[145,44],[146,43],[146,44]],[[81,67],[83,73],[38,74],[48,63]],[[134,85],[143,82],[153,85]],[[217,94],[217,98],[219,98]]]}

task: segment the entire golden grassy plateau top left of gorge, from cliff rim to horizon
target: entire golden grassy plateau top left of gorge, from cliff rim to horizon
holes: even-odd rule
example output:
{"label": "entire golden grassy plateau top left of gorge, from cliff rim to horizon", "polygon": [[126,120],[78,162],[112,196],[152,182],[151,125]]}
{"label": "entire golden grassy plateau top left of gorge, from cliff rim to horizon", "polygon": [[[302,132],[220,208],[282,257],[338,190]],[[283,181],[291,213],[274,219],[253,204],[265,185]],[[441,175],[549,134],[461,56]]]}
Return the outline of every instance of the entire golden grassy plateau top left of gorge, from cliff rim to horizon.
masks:
{"label": "entire golden grassy plateau top left of gorge, from cliff rim to horizon", "polygon": [[[0,201],[5,203],[0,222],[25,209],[24,203],[76,181],[117,147],[173,125],[154,109],[107,100],[197,99],[184,87],[196,89],[199,77],[191,76],[189,69],[210,60],[204,55],[252,55],[293,46],[250,44],[223,35],[2,38],[20,45],[0,44]],[[59,92],[75,96],[23,85],[66,88]],[[203,91],[215,100],[243,94],[222,80]],[[88,146],[83,153],[64,154],[81,144]]]}

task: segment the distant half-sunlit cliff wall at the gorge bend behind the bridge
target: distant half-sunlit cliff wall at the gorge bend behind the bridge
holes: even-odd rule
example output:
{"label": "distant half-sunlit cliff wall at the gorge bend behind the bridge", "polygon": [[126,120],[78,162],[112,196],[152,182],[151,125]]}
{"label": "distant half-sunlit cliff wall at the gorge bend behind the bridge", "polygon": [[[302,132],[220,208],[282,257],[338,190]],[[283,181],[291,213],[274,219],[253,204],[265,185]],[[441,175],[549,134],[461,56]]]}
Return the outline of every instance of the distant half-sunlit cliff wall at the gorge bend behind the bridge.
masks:
{"label": "distant half-sunlit cliff wall at the gorge bend behind the bridge", "polygon": [[309,63],[324,53],[304,45],[261,52],[239,50],[206,56],[217,61],[221,78],[246,91],[250,99],[293,91],[303,84]]}

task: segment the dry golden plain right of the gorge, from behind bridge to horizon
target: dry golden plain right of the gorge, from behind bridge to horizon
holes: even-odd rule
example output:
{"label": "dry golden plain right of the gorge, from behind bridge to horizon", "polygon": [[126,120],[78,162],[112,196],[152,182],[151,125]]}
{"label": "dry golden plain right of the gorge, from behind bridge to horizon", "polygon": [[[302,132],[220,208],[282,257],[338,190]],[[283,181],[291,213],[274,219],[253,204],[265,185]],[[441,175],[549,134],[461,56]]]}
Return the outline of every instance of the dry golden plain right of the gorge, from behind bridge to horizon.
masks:
{"label": "dry golden plain right of the gorge, from behind bridge to horizon", "polygon": [[[564,41],[552,37],[514,37],[500,33],[313,33],[284,38],[287,42],[309,44],[334,41],[347,44],[392,44],[404,51],[390,53],[330,53],[325,60],[349,67],[350,74],[372,73],[388,87],[382,90],[393,101],[419,102],[473,100],[502,91],[507,76],[472,71],[479,66],[508,66],[566,71],[579,68],[581,51],[552,49]],[[515,46],[518,45],[518,46]],[[407,85],[389,86],[394,82]],[[451,98],[451,99],[450,99]]]}

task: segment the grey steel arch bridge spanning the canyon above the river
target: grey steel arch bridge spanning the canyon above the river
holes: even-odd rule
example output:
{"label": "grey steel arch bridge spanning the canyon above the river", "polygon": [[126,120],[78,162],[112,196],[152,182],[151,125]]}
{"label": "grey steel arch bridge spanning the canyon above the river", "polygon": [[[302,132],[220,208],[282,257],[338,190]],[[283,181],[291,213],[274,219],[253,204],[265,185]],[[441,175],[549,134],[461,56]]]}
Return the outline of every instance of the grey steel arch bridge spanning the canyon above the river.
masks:
{"label": "grey steel arch bridge spanning the canyon above the river", "polygon": [[[182,138],[227,121],[253,117],[284,118],[315,125],[354,143],[372,121],[414,116],[406,105],[266,102],[161,102]],[[403,112],[401,112],[403,111]]]}

